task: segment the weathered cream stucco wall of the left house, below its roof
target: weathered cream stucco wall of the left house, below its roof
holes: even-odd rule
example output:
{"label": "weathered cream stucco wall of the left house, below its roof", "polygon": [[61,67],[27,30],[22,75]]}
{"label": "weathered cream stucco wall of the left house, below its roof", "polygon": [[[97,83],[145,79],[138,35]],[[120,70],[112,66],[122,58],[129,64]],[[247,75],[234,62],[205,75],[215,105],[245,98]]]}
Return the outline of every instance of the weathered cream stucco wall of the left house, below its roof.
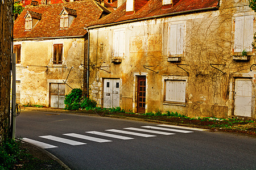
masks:
{"label": "weathered cream stucco wall of the left house, below its roof", "polygon": [[[61,65],[52,62],[54,44],[63,44]],[[22,46],[21,62],[16,65],[21,104],[51,107],[51,84],[67,83],[63,95],[68,94],[72,88],[82,88],[84,38],[15,41],[14,45]]]}

